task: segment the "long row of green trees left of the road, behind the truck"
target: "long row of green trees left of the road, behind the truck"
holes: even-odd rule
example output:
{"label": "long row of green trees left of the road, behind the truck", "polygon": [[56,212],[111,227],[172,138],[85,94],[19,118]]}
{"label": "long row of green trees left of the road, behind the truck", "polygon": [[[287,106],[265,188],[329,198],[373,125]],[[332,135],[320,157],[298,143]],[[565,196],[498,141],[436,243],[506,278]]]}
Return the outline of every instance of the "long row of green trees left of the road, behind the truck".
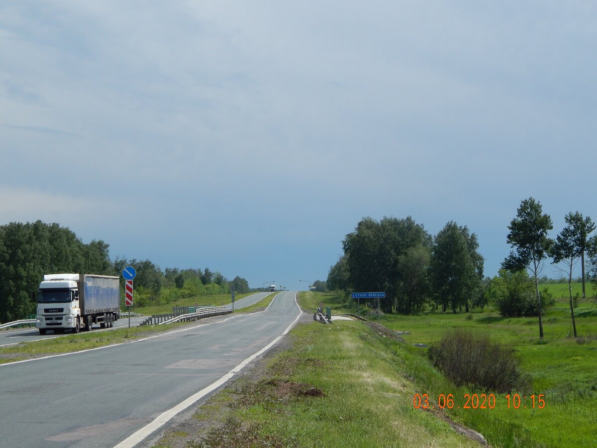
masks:
{"label": "long row of green trees left of the road, behind the truck", "polygon": [[[69,272],[121,277],[126,266],[137,271],[134,280],[137,306],[251,290],[244,278],[237,276],[229,281],[209,268],[162,271],[150,260],[110,260],[109,244],[101,240],[85,244],[75,232],[57,223],[12,222],[0,226],[0,321],[35,314],[39,282],[44,274]],[[122,283],[121,278],[121,286]]]}

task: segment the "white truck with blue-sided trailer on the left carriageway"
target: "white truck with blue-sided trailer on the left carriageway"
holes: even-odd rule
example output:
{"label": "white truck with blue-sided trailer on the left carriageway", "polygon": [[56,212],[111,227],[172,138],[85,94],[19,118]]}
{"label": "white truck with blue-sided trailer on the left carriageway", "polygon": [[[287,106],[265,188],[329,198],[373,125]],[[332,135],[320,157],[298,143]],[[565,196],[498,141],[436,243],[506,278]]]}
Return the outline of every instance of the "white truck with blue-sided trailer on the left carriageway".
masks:
{"label": "white truck with blue-sided trailer on the left carriageway", "polygon": [[48,330],[91,330],[112,327],[120,312],[119,278],[94,274],[46,274],[39,284],[36,327]]}

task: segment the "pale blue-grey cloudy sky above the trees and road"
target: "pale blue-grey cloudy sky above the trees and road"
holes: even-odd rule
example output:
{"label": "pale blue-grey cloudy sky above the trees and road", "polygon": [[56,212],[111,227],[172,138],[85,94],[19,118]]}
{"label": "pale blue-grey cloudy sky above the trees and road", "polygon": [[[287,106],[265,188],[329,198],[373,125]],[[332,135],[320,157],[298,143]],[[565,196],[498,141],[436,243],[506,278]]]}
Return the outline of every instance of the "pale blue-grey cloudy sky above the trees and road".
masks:
{"label": "pale blue-grey cloudy sky above the trees and road", "polygon": [[304,290],[362,217],[454,220],[493,277],[525,198],[552,237],[597,219],[596,19],[581,1],[4,0],[0,224]]}

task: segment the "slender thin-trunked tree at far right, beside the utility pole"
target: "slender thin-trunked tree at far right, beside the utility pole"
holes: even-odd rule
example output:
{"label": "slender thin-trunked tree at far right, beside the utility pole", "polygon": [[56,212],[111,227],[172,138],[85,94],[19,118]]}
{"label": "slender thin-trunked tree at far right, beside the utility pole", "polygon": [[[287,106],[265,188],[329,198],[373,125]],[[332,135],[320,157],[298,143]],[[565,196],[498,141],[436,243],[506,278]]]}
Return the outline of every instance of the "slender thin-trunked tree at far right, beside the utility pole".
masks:
{"label": "slender thin-trunked tree at far right, beside the utility pole", "polygon": [[582,260],[583,270],[583,298],[584,298],[584,251],[588,247],[587,233],[595,230],[595,225],[590,217],[583,219],[583,215],[578,213],[568,213],[565,217],[567,226],[556,237],[553,244],[551,255],[553,263],[565,263],[568,268],[568,294],[570,295],[570,314],[572,317],[572,326],[574,337],[577,337],[576,321],[574,320],[574,299],[572,296],[572,269],[578,257]]}

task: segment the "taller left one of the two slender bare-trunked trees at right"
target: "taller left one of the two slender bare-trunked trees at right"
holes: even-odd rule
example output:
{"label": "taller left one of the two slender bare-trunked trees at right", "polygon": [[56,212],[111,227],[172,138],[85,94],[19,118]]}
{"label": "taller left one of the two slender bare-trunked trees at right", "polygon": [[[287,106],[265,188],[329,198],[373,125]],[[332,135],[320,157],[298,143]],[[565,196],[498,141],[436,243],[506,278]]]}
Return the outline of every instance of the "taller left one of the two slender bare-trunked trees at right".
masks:
{"label": "taller left one of the two slender bare-trunked trees at right", "polygon": [[539,201],[528,198],[521,202],[516,211],[516,217],[510,222],[508,229],[510,232],[506,241],[514,250],[510,251],[501,266],[511,272],[528,269],[533,274],[537,294],[539,337],[543,339],[543,321],[541,321],[543,309],[541,309],[538,277],[543,268],[543,260],[548,256],[553,244],[553,240],[547,236],[547,233],[553,229],[552,219],[548,214],[543,213]]}

